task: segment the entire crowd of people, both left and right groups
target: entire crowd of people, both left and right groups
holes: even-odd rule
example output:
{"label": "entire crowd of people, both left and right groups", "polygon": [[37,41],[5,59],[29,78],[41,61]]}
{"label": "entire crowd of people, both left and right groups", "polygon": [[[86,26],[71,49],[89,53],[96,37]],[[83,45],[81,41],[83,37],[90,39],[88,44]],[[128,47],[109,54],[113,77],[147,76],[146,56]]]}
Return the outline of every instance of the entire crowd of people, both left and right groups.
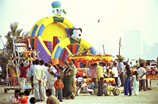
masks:
{"label": "entire crowd of people, both left and right groups", "polygon": [[[19,63],[17,62],[17,59]],[[35,104],[45,101],[47,104],[59,104],[64,99],[74,99],[76,95],[76,73],[74,60],[64,65],[53,65],[50,61],[44,63],[29,50],[27,56],[22,55],[9,59],[7,68],[9,84],[13,87],[19,85],[20,90],[15,90],[15,96],[10,104]],[[114,61],[111,63],[96,62],[90,65],[83,64],[83,77],[92,78],[94,87],[98,89],[98,96],[103,95],[103,79],[114,78],[116,87],[124,87],[124,95],[139,95],[142,89],[150,87],[146,79],[144,64],[134,67],[128,62]],[[132,70],[131,70],[132,69]],[[31,84],[29,84],[31,83]],[[26,85],[30,85],[29,87]],[[147,87],[145,86],[147,85]],[[30,92],[34,94],[30,97]]]}

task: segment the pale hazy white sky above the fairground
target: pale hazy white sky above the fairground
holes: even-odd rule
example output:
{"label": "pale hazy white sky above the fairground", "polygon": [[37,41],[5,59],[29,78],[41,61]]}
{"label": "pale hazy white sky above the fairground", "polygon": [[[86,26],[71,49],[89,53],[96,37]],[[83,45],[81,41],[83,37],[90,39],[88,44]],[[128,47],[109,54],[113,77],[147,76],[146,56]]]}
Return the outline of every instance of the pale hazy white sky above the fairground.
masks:
{"label": "pale hazy white sky above the fairground", "polygon": [[[76,27],[82,28],[82,38],[100,53],[103,53],[104,45],[107,54],[117,55],[121,37],[121,54],[125,56],[128,49],[124,47],[126,42],[123,38],[128,31],[139,31],[140,41],[150,47],[158,42],[158,0],[59,1],[67,12],[66,18]],[[20,28],[30,31],[39,19],[51,16],[52,2],[53,0],[0,0],[0,35],[3,36],[3,41],[10,23],[19,22]],[[135,38],[131,38],[131,42]],[[158,52],[153,54],[149,58],[158,57]],[[145,56],[142,54],[142,57]]]}

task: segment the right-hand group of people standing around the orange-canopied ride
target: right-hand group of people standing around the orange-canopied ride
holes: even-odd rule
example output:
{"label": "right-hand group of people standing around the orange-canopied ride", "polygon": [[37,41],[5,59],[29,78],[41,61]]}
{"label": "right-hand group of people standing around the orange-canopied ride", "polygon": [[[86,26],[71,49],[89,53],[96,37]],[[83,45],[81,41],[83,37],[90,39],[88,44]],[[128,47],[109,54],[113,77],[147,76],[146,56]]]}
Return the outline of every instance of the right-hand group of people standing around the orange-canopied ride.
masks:
{"label": "right-hand group of people standing around the orange-canopied ride", "polygon": [[[86,69],[86,70],[85,70]],[[139,91],[146,91],[151,88],[151,80],[146,79],[146,72],[149,69],[145,63],[138,63],[131,65],[129,62],[114,61],[111,63],[99,62],[90,65],[90,68],[83,68],[86,74],[84,77],[92,78],[95,87],[98,88],[98,96],[103,95],[99,89],[104,89],[104,78],[114,78],[116,87],[124,88],[124,95],[139,95]],[[101,88],[100,88],[101,86]],[[133,89],[133,90],[132,90]]]}

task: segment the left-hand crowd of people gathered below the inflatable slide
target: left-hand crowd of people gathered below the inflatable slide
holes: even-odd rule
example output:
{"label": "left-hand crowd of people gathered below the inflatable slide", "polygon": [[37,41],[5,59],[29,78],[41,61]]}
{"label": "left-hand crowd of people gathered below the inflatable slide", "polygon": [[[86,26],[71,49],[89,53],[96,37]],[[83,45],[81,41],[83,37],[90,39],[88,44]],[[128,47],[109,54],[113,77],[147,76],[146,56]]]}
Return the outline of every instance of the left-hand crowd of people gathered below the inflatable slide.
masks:
{"label": "left-hand crowd of people gathered below the inflatable slide", "polygon": [[[33,55],[21,57],[19,64],[14,57],[7,64],[9,86],[20,88],[20,91],[15,90],[14,98],[21,104],[33,104],[26,100],[29,97],[22,94],[28,89],[34,94],[36,102],[47,100],[47,104],[59,104],[63,98],[75,98],[77,69],[73,61],[60,66],[53,65],[51,61],[44,63],[43,60],[30,56]],[[21,101],[21,98],[25,100]],[[17,104],[16,102],[15,99],[10,100],[10,104]]]}

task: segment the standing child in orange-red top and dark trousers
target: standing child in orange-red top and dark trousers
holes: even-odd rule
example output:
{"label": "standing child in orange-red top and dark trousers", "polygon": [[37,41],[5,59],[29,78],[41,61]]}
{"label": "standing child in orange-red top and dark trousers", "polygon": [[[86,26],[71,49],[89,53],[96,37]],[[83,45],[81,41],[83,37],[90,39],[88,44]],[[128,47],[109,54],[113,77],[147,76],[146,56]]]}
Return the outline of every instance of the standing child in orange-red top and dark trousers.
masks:
{"label": "standing child in orange-red top and dark trousers", "polygon": [[62,102],[62,89],[64,88],[64,83],[60,76],[58,76],[57,80],[54,82],[54,87],[56,89],[56,97]]}

